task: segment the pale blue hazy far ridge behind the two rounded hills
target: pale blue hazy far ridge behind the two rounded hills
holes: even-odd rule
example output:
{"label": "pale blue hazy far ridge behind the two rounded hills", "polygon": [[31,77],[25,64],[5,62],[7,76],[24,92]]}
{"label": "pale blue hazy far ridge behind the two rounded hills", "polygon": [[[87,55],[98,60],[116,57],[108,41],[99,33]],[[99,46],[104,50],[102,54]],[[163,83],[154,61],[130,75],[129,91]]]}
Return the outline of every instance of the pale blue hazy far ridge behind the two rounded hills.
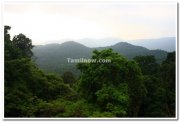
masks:
{"label": "pale blue hazy far ridge behind the two rounded hills", "polygon": [[[72,41],[73,39],[64,39],[64,40],[54,40],[49,41],[46,44],[51,43],[62,43],[67,41]],[[150,50],[161,49],[168,52],[175,51],[176,38],[175,37],[164,37],[164,38],[155,38],[155,39],[138,39],[138,40],[123,40],[118,38],[103,38],[103,39],[91,39],[91,38],[83,38],[74,40],[75,42],[81,43],[87,47],[106,47],[112,46],[119,42],[128,42],[133,45],[143,46]]]}

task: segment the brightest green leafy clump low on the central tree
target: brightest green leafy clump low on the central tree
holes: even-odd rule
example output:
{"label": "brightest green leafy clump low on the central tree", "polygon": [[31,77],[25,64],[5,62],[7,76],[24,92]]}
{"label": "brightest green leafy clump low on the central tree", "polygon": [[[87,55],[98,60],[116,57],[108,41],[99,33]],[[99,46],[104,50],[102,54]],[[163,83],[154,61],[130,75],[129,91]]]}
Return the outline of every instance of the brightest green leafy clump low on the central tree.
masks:
{"label": "brightest green leafy clump low on the central tree", "polygon": [[118,88],[112,86],[103,86],[96,92],[97,104],[102,111],[109,111],[115,116],[126,116],[128,108],[128,88],[126,83],[122,83]]}

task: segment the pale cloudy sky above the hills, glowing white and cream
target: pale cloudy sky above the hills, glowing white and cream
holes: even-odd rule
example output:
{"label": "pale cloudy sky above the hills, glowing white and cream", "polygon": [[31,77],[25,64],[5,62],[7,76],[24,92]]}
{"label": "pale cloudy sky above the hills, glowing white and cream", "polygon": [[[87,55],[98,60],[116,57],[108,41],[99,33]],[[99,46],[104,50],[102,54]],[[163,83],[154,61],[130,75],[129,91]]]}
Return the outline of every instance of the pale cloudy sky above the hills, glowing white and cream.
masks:
{"label": "pale cloudy sky above the hills, glowing white and cream", "polygon": [[12,36],[23,33],[34,45],[84,38],[175,37],[177,3],[5,3],[3,21],[11,26]]}

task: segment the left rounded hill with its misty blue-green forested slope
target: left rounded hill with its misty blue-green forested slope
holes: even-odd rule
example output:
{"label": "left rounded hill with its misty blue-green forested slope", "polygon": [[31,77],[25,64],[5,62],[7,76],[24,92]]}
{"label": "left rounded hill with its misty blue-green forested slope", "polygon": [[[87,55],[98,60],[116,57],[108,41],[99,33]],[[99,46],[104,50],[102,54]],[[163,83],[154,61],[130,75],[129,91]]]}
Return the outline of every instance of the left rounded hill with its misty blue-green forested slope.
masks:
{"label": "left rounded hill with its misty blue-green forested slope", "polygon": [[73,41],[62,44],[47,44],[33,48],[35,62],[39,68],[62,74],[64,71],[79,73],[75,64],[67,63],[67,58],[88,58],[92,49]]}

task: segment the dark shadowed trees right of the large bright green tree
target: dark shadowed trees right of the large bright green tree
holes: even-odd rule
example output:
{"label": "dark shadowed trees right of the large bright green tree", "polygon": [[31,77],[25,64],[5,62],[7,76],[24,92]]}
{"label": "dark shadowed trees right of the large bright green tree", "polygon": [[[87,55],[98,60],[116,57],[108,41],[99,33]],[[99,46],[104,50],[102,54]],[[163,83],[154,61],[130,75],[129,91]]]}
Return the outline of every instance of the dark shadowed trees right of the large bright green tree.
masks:
{"label": "dark shadowed trees right of the large bright green tree", "polygon": [[137,56],[147,96],[143,99],[139,116],[175,116],[175,52],[168,53],[161,65],[154,56]]}

